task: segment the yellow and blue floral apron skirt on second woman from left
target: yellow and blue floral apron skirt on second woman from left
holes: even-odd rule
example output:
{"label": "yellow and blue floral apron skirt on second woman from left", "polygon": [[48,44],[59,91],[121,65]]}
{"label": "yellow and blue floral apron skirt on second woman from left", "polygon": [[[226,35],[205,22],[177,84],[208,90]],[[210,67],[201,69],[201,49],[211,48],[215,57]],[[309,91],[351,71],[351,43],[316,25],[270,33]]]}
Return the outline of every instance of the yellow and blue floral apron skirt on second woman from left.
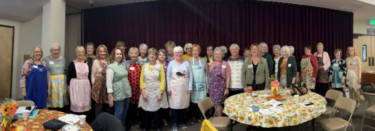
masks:
{"label": "yellow and blue floral apron skirt on second woman from left", "polygon": [[64,107],[69,104],[65,74],[51,75],[51,95],[47,97],[47,107]]}

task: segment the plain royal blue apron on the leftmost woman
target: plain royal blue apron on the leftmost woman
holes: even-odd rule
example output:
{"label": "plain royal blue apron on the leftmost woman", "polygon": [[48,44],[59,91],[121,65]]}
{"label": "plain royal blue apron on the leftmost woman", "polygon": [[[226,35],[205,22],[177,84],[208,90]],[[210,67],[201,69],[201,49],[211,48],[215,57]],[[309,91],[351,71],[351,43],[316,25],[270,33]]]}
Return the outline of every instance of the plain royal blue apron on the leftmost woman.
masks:
{"label": "plain royal blue apron on the leftmost woman", "polygon": [[26,100],[33,101],[37,107],[47,105],[47,68],[34,64],[34,60],[33,70],[26,77]]}

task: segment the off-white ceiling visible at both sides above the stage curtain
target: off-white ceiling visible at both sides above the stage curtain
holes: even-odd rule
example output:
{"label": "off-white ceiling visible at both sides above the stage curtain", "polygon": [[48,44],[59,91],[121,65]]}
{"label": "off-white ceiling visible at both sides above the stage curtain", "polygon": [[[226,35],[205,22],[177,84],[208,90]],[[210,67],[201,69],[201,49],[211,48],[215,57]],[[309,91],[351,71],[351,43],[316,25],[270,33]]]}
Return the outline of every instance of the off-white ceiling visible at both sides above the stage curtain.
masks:
{"label": "off-white ceiling visible at both sides above the stage curtain", "polygon": [[[35,18],[43,12],[43,5],[50,0],[0,0],[0,17],[26,21]],[[90,0],[66,0],[66,14],[80,12],[82,9],[110,6],[123,3],[134,3],[152,0],[93,0],[94,6],[90,6]],[[266,0],[286,3],[305,4],[330,9],[345,10],[354,13],[355,20],[375,19],[375,0]],[[359,4],[353,10],[341,9],[346,4]],[[371,4],[370,4],[371,3]]]}

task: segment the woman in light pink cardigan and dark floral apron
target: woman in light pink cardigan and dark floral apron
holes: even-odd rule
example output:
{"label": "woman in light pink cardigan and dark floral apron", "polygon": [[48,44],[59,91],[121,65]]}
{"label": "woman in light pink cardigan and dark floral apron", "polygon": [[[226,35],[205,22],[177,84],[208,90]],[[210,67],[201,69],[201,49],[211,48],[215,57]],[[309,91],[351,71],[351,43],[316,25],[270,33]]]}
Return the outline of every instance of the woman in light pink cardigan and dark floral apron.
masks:
{"label": "woman in light pink cardigan and dark floral apron", "polygon": [[326,96],[329,88],[329,68],[331,67],[331,60],[329,54],[323,51],[323,43],[317,44],[317,52],[314,53],[318,60],[318,74],[317,84],[315,85],[315,92],[321,96]]}

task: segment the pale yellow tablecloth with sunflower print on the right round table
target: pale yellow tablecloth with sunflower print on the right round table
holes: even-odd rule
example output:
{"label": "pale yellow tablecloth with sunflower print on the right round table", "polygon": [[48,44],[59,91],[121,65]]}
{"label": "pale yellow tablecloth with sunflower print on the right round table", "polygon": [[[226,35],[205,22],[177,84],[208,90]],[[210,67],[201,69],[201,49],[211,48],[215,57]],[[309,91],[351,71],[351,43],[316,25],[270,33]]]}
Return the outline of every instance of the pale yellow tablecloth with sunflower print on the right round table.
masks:
{"label": "pale yellow tablecloth with sunflower print on the right round table", "polygon": [[[253,93],[258,93],[258,95],[272,95],[271,92],[269,94],[261,94],[261,92],[262,91],[253,91]],[[286,100],[280,101],[284,104],[278,107],[286,109],[281,113],[263,115],[259,112],[252,112],[252,107],[247,106],[247,93],[241,93],[227,98],[224,101],[225,107],[223,113],[228,115],[230,119],[244,124],[269,128],[298,125],[320,116],[327,110],[326,99],[317,93],[308,92],[299,97],[299,100],[312,100],[314,105],[311,107],[303,107],[299,105],[299,103],[294,103],[293,96],[290,95],[290,92],[281,92],[280,94],[288,97]],[[252,103],[258,103],[259,110],[272,107],[271,105],[261,104],[267,101],[266,97],[252,97]]]}

